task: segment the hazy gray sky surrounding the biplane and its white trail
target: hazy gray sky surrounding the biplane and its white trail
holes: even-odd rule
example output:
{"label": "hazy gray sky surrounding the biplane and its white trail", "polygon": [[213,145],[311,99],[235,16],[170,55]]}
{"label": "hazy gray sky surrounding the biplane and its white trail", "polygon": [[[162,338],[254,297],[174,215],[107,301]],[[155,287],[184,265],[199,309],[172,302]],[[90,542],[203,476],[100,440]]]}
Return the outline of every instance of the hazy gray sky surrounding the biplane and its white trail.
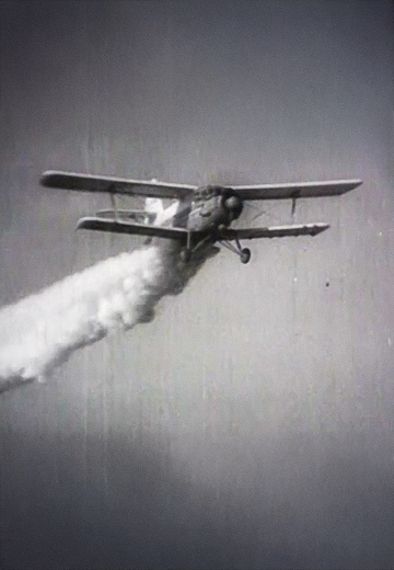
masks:
{"label": "hazy gray sky surrounding the biplane and its white trail", "polygon": [[1,305],[141,247],[74,232],[106,196],[43,170],[364,181],[298,205],[329,231],[223,251],[152,322],[1,396],[2,567],[391,567],[392,3],[1,2],[0,22]]}

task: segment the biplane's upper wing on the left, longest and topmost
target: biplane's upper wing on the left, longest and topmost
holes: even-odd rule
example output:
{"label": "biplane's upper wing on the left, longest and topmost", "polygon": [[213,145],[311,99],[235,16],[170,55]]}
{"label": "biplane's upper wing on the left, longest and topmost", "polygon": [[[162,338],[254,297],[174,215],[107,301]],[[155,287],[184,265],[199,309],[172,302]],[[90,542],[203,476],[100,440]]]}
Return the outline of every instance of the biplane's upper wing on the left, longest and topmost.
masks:
{"label": "biplane's upper wing on the left, longest and topmost", "polygon": [[79,190],[82,192],[108,192],[111,194],[131,194],[149,197],[185,200],[197,186],[172,184],[144,180],[128,180],[113,176],[94,176],[47,170],[39,182],[43,186]]}

